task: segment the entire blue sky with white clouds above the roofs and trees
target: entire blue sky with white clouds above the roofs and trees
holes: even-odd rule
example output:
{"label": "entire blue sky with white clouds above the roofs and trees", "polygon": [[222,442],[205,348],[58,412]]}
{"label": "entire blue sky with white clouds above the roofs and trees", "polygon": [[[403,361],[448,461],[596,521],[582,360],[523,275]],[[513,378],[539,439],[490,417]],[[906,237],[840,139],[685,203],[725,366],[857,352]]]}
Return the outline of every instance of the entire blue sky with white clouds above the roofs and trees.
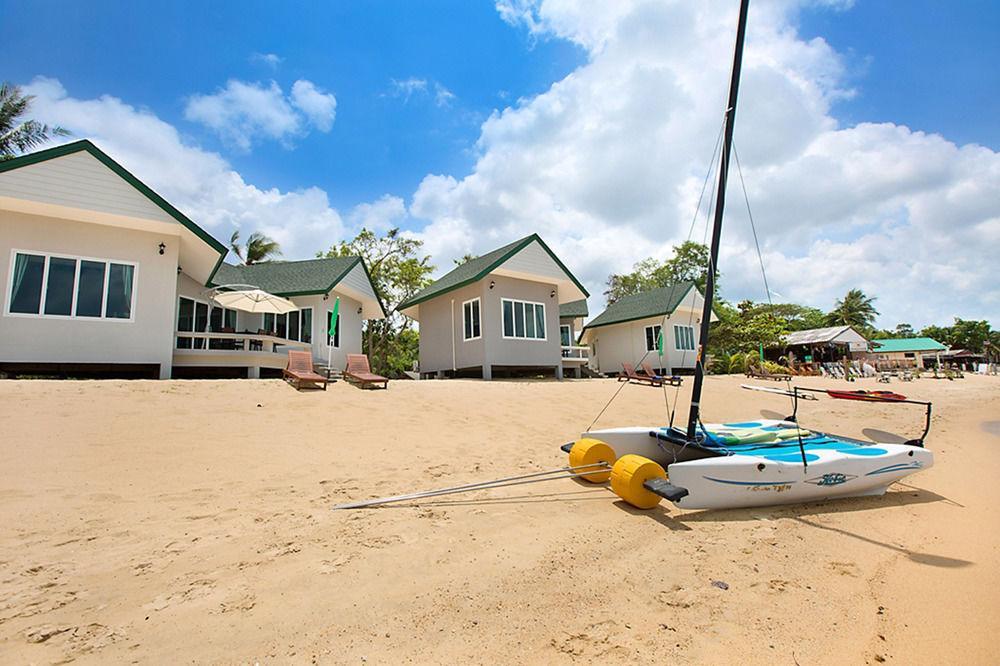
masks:
{"label": "entire blue sky with white clouds above the roofs and trees", "polygon": [[[702,240],[737,2],[0,0],[0,77],[210,233],[539,233],[604,282]],[[754,0],[722,296],[1000,323],[1000,5]],[[694,223],[692,224],[692,221]]]}

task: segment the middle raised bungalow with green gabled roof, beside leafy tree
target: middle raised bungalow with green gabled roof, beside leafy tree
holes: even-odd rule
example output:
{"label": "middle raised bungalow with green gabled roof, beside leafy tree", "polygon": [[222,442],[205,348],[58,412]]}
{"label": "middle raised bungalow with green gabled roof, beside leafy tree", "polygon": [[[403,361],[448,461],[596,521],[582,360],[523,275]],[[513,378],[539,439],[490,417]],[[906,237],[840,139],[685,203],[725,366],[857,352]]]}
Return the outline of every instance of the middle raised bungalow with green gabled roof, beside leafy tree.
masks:
{"label": "middle raised bungalow with green gabled roof, beside leafy tree", "polygon": [[[586,363],[586,350],[574,349],[572,340],[578,301],[588,295],[532,234],[456,267],[399,311],[420,322],[423,377],[542,371],[562,378],[564,369],[579,375]],[[563,322],[570,325],[568,338]]]}

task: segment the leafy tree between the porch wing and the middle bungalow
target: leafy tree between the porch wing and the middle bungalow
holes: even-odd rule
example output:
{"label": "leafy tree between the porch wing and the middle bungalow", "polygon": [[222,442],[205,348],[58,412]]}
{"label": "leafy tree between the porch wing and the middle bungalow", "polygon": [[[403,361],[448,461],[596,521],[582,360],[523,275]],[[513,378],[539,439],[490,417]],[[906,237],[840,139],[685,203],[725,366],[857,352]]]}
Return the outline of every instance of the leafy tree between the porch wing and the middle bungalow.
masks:
{"label": "leafy tree between the porch wing and the middle bungalow", "polygon": [[360,256],[371,274],[375,291],[388,310],[385,319],[365,323],[361,341],[375,372],[399,374],[418,358],[419,335],[412,321],[399,313],[399,304],[430,284],[434,266],[421,256],[423,241],[390,229],[378,236],[362,229],[350,241],[334,245],[320,257]]}

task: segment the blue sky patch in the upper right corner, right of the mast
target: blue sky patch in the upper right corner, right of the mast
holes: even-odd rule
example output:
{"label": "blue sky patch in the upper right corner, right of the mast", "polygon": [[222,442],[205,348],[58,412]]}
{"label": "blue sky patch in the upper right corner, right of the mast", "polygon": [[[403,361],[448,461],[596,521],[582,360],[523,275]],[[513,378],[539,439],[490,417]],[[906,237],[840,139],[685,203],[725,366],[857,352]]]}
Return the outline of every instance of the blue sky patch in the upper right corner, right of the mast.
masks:
{"label": "blue sky patch in the upper right corner, right of the mast", "polygon": [[888,120],[1000,148],[1000,3],[858,2],[803,12],[801,30],[845,54],[857,87],[835,107],[845,123]]}

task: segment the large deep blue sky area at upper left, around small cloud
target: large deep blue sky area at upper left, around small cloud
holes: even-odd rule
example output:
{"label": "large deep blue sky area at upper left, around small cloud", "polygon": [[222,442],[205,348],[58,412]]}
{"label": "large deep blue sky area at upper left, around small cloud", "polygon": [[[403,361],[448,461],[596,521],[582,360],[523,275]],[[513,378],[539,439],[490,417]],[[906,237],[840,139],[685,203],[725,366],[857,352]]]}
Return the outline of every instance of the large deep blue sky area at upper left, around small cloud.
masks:
{"label": "large deep blue sky area at upper left, around small cloud", "polygon": [[[224,152],[249,181],[320,185],[337,206],[412,191],[427,173],[473,162],[480,124],[517,97],[543,92],[585,57],[562,40],[532,40],[489,3],[467,1],[4,2],[4,76],[43,74],[76,97],[111,94],[149,107],[203,146]],[[30,57],[28,57],[30,54]],[[269,65],[255,54],[274,54]],[[337,97],[328,134],[294,149],[263,143],[227,151],[184,120],[185,100],[229,79],[308,79]],[[392,96],[392,80],[440,83],[455,97]]]}

